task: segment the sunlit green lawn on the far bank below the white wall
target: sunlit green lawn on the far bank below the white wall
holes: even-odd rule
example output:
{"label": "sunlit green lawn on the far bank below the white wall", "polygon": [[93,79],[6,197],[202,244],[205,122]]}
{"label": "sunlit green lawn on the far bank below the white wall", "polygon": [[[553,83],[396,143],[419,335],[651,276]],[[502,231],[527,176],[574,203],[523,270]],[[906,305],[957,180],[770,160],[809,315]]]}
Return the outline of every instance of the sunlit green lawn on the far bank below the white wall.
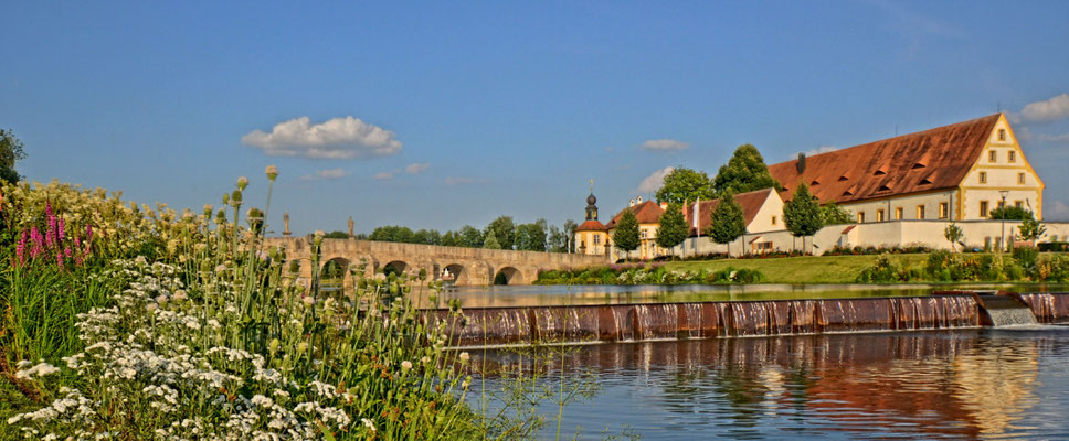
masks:
{"label": "sunlit green lawn on the far bank below the white wall", "polygon": [[[871,256],[804,256],[770,259],[723,259],[667,262],[669,270],[718,271],[727,267],[756,269],[768,283],[854,283],[857,275],[876,262]],[[900,267],[923,263],[927,254],[891,255]]]}

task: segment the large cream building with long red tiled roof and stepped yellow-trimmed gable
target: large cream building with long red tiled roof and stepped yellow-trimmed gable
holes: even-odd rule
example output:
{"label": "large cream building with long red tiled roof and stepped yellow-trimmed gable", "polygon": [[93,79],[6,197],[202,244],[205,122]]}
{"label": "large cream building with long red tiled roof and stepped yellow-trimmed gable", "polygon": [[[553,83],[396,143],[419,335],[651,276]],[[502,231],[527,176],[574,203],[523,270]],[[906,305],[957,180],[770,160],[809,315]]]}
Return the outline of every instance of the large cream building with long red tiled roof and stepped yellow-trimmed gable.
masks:
{"label": "large cream building with long red tiled roof and stepped yellow-trimmed gable", "polygon": [[1003,114],[800,157],[769,172],[783,184],[784,200],[804,183],[860,224],[978,220],[1003,201],[1042,216],[1044,183]]}

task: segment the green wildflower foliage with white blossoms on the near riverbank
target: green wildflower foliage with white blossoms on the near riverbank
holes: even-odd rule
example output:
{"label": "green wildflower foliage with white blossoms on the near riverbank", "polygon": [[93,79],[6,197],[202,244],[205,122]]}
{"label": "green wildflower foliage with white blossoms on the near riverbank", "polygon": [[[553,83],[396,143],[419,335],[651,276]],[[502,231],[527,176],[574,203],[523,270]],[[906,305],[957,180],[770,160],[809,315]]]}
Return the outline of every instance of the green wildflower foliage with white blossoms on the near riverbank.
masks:
{"label": "green wildflower foliage with white blossoms on the near riverbank", "polygon": [[[9,412],[15,409],[0,407],[6,413],[0,438],[390,440],[536,433],[531,421],[486,417],[464,402],[472,379],[457,367],[468,355],[444,347],[444,330],[457,316],[426,324],[405,295],[413,286],[432,293],[436,286],[416,275],[364,277],[363,268],[350,267],[345,269],[351,275],[348,290],[320,290],[318,271],[306,288],[299,269],[319,267],[322,236],[309,244],[310,262],[286,261],[281,250],[263,249],[266,213],[251,209],[248,228],[240,227],[245,185],[247,180],[240,180],[224,197],[231,216],[222,211],[213,216],[205,207],[203,215],[137,224],[145,229],[129,249],[137,248],[137,238],[158,240],[166,233],[159,258],[169,263],[117,259],[83,273],[44,260],[21,267],[34,277],[73,273],[98,282],[95,292],[104,298],[86,312],[68,309],[68,320],[54,323],[67,338],[76,336],[76,344],[49,348],[30,341],[24,346],[36,352],[7,354],[25,359],[4,373],[6,385],[39,404],[14,415]],[[8,263],[14,258],[10,248],[4,258]],[[12,275],[3,280],[10,283],[17,279]],[[24,286],[41,294],[4,298],[6,309],[41,298],[71,301],[91,291],[40,280]],[[45,315],[57,311],[54,303],[34,308]],[[27,335],[50,334],[28,327]]]}

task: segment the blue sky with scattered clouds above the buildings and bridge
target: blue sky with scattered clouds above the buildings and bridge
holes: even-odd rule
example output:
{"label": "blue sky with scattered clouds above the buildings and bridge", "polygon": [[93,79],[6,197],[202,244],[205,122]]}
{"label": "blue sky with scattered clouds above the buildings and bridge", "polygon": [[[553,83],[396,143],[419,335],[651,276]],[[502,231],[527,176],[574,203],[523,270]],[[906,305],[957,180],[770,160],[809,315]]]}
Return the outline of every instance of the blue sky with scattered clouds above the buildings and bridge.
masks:
{"label": "blue sky with scattered clouds above the buildings and bridge", "polygon": [[[315,3],[315,4],[313,4]],[[1069,2],[0,3],[17,169],[295,234],[582,220],[715,175],[1005,111],[1069,219]]]}

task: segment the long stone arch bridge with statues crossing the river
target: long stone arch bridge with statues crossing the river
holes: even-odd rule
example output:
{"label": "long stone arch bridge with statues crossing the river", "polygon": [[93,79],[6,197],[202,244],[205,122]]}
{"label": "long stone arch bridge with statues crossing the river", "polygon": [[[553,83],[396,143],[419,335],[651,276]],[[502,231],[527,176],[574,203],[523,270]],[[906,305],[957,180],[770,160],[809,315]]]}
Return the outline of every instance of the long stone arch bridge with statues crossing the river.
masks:
{"label": "long stone arch bridge with statues crossing the river", "polygon": [[[265,245],[285,249],[288,260],[300,260],[300,276],[311,276],[311,244],[308,238],[267,238]],[[530,284],[538,278],[539,271],[608,263],[605,256],[322,239],[319,270],[331,261],[342,268],[364,261],[369,276],[387,267],[400,272],[425,269],[427,276],[434,279],[448,275],[456,286],[494,284],[495,279],[500,278],[508,284]]]}

